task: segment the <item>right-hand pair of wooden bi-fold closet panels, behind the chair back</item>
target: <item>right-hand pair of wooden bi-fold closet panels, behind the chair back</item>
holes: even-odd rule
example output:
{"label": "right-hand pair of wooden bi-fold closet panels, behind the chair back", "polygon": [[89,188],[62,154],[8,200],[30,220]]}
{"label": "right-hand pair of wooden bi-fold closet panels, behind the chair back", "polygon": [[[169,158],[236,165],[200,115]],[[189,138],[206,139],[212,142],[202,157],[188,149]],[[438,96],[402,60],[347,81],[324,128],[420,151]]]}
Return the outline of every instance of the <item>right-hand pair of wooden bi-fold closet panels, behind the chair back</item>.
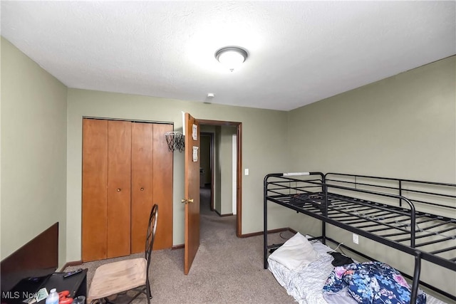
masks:
{"label": "right-hand pair of wooden bi-fold closet panels, behind the chair back", "polygon": [[172,125],[133,122],[131,253],[144,251],[149,213],[158,205],[154,249],[172,246],[172,153],[164,140]]}

